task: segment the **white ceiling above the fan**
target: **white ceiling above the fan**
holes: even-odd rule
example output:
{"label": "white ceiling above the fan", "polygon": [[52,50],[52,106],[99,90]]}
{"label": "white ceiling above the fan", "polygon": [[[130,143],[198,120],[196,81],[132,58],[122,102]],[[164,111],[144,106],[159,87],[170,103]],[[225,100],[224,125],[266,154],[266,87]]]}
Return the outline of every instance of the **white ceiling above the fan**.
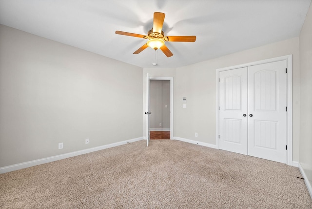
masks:
{"label": "white ceiling above the fan", "polygon": [[[300,34],[311,0],[0,0],[0,24],[140,67],[180,67]],[[154,12],[166,14],[166,42],[174,56],[147,48]]]}

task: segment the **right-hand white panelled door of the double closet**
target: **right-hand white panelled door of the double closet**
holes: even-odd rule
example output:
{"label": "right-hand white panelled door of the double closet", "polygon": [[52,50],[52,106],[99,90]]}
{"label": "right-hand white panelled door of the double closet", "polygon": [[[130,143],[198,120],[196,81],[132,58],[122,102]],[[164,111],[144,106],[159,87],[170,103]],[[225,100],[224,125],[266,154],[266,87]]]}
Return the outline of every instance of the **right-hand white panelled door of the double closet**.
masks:
{"label": "right-hand white panelled door of the double closet", "polygon": [[248,67],[248,155],[286,163],[286,61]]}

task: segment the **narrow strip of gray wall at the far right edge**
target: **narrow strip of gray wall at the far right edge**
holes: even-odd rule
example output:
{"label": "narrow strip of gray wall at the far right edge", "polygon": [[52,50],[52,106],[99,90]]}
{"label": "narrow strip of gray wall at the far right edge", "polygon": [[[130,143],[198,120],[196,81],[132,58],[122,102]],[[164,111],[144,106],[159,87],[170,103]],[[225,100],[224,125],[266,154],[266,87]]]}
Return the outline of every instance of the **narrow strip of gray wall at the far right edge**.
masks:
{"label": "narrow strip of gray wall at the far right edge", "polygon": [[[300,165],[312,186],[312,5],[300,37]],[[312,192],[312,191],[310,191]],[[312,193],[311,193],[312,195]]]}

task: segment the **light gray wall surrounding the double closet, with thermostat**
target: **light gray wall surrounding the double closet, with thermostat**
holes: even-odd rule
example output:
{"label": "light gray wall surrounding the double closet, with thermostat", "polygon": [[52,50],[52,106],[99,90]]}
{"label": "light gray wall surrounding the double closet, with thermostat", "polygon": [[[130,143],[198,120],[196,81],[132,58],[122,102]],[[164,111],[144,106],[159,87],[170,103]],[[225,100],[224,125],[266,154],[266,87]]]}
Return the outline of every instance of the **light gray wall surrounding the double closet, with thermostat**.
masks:
{"label": "light gray wall surrounding the double closet, with thermostat", "polygon": [[[187,97],[187,108],[177,105],[176,137],[215,145],[216,69],[292,54],[293,160],[299,161],[299,38],[256,47],[176,70],[176,96]],[[178,103],[179,101],[177,101]],[[185,120],[187,119],[187,120]],[[188,127],[188,128],[186,128]],[[195,132],[198,137],[195,137]]]}

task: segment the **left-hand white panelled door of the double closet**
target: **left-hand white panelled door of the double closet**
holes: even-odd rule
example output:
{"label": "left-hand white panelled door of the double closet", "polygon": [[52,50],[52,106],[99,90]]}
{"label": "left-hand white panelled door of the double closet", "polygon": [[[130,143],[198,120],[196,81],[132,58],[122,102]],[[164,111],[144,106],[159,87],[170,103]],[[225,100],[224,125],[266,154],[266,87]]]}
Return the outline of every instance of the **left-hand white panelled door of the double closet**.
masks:
{"label": "left-hand white panelled door of the double closet", "polygon": [[247,67],[221,71],[219,78],[219,148],[247,155]]}

